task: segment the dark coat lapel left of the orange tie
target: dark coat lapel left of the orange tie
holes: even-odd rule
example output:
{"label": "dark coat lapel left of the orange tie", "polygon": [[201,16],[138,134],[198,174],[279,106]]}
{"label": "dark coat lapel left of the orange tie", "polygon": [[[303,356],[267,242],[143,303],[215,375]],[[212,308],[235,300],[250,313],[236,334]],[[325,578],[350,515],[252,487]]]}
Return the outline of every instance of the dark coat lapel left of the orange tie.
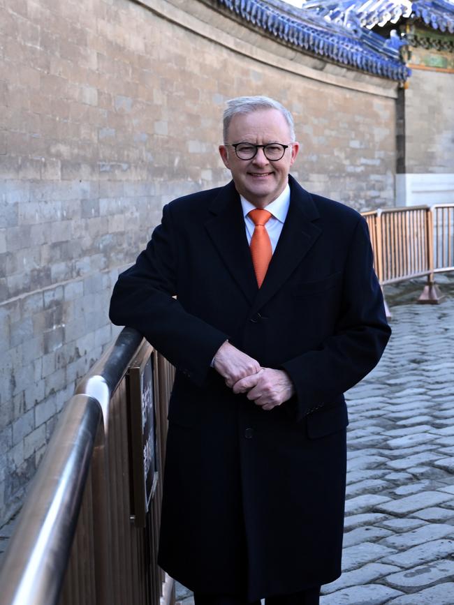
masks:
{"label": "dark coat lapel left of the orange tie", "polygon": [[247,244],[240,196],[233,181],[221,188],[210,205],[210,212],[213,216],[206,221],[205,228],[233,280],[252,304],[258,287]]}

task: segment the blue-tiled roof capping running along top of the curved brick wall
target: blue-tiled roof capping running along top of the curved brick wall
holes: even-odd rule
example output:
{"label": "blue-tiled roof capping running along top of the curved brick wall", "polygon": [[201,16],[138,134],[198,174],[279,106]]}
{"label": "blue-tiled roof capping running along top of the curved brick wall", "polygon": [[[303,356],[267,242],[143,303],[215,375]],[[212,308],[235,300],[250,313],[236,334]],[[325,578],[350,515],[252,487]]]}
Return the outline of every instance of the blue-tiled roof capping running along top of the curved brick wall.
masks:
{"label": "blue-tiled roof capping running along top of the curved brick wall", "polygon": [[[215,0],[284,43],[337,64],[390,80],[404,81],[409,69],[400,59],[402,40],[383,38],[361,27],[327,20],[316,10],[301,10],[280,0]],[[351,0],[350,0],[350,3]]]}

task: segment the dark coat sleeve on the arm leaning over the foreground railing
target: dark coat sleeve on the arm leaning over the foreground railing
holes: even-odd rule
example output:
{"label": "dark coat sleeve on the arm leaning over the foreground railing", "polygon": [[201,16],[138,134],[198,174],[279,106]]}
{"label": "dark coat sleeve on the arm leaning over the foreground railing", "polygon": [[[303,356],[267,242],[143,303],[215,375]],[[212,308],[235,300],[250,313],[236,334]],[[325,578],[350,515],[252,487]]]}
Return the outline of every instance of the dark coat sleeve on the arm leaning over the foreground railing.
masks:
{"label": "dark coat sleeve on the arm leaning over the foreground railing", "polygon": [[228,336],[184,311],[177,294],[178,257],[169,206],[136,264],[120,274],[110,300],[110,320],[135,328],[177,370],[203,384]]}

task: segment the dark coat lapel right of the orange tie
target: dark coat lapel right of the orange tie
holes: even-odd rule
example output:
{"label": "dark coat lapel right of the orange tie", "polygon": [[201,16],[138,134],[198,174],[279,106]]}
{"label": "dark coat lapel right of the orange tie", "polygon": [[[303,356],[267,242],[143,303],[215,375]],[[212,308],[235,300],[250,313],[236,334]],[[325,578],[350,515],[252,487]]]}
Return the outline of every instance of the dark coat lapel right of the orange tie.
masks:
{"label": "dark coat lapel right of the orange tie", "polygon": [[300,187],[292,177],[288,180],[291,198],[287,218],[251,313],[258,311],[274,296],[321,234],[321,229],[312,222],[319,216],[312,195]]}

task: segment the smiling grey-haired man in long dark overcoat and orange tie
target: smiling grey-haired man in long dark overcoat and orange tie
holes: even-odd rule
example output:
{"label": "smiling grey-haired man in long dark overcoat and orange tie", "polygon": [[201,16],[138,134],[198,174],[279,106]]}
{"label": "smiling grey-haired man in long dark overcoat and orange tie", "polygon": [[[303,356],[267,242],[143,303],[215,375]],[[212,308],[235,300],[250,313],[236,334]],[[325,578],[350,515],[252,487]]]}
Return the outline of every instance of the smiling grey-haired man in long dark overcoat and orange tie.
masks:
{"label": "smiling grey-haired man in long dark overcoat and orange tie", "polygon": [[288,176],[298,149],[282,105],[230,100],[233,181],[164,207],[112,296],[177,370],[159,563],[196,605],[314,605],[341,574],[343,393],[390,329],[364,219]]}

